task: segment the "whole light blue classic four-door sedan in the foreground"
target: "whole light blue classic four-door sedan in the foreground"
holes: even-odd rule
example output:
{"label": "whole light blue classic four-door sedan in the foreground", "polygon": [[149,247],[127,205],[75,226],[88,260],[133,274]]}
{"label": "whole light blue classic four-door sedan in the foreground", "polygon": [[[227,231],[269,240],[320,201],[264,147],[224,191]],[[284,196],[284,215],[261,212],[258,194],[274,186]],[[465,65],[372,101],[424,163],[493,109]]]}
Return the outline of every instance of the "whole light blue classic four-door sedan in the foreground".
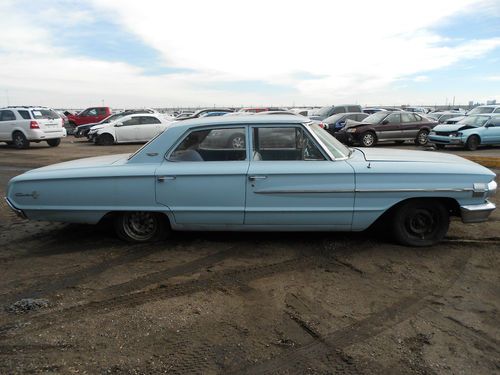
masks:
{"label": "whole light blue classic four-door sedan in the foreground", "polygon": [[[227,142],[232,134],[243,144]],[[173,124],[132,155],[26,172],[7,202],[32,220],[111,216],[130,241],[170,229],[362,231],[381,219],[400,243],[428,246],[450,215],[487,220],[494,178],[454,155],[349,149],[299,116],[214,117]]]}

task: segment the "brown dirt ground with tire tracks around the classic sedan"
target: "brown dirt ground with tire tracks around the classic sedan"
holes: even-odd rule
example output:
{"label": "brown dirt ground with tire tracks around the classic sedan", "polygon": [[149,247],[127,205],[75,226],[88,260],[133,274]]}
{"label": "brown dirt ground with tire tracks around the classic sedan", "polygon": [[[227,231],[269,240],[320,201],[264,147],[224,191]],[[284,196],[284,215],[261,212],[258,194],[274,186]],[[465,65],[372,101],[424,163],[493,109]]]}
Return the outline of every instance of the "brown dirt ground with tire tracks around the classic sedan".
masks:
{"label": "brown dirt ground with tire tracks around the classic sedan", "polygon": [[[0,195],[30,168],[138,147],[0,145]],[[500,373],[499,222],[454,220],[426,249],[383,233],[129,245],[106,225],[18,219],[2,200],[0,373]],[[48,306],[12,311],[24,298]]]}

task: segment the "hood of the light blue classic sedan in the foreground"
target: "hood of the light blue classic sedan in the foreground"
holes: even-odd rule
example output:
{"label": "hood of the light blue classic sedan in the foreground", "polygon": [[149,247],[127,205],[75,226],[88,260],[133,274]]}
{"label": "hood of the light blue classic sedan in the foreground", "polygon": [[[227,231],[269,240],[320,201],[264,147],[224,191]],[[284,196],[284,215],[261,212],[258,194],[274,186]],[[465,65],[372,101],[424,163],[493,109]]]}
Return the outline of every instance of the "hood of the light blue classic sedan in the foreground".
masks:
{"label": "hood of the light blue classic sedan in the foreground", "polygon": [[418,162],[418,163],[453,163],[464,164],[471,161],[460,156],[432,151],[396,150],[387,148],[357,148],[366,161]]}

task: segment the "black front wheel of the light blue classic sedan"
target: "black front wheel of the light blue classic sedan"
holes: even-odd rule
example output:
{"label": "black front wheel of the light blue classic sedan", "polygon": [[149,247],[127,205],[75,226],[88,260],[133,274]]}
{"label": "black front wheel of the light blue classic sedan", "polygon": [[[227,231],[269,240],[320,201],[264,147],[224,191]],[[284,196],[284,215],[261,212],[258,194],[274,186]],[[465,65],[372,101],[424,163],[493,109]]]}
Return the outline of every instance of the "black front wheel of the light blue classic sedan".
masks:
{"label": "black front wheel of the light blue classic sedan", "polygon": [[391,225],[394,238],[400,244],[432,246],[448,232],[450,215],[439,201],[411,200],[396,209]]}

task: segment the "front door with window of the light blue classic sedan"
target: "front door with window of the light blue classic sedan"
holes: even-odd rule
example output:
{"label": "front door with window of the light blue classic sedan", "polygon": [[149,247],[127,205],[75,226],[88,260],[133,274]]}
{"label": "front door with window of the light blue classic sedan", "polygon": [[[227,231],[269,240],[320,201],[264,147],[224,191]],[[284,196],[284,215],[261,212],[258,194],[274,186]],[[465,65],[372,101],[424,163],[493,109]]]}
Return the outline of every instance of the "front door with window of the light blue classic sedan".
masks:
{"label": "front door with window of the light blue classic sedan", "polygon": [[301,125],[256,125],[251,134],[245,224],[350,228],[354,174],[344,160],[329,160]]}

